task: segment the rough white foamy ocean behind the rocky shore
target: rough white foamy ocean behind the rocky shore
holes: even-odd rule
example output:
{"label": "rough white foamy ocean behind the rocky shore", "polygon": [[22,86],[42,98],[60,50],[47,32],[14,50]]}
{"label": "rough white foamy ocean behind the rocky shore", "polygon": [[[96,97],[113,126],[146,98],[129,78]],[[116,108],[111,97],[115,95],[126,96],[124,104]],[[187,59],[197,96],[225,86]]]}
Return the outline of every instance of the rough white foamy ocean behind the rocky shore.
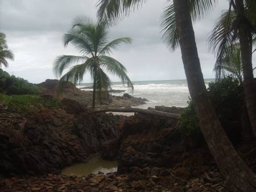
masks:
{"label": "rough white foamy ocean behind the rocky shore", "polygon": [[[205,79],[205,85],[214,79]],[[145,105],[139,108],[155,107],[156,105],[185,107],[189,99],[187,80],[163,80],[163,81],[134,81],[134,92],[124,87],[121,82],[113,82],[112,89],[125,90],[122,93],[111,93],[112,95],[123,95],[129,93],[134,97],[148,99]],[[92,84],[79,84],[78,88],[92,86]],[[82,89],[92,90],[92,89]]]}

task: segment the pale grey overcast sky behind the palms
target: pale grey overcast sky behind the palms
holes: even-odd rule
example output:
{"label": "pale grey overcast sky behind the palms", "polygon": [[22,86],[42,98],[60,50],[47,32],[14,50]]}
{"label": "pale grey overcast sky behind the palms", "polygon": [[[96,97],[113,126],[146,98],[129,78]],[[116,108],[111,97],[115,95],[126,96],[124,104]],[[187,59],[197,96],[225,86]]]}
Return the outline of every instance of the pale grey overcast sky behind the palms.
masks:
{"label": "pale grey overcast sky behind the palms", "polygon": [[[79,55],[63,34],[77,15],[96,20],[97,0],[0,0],[0,31],[14,52],[10,74],[39,83],[56,78],[52,64],[59,55]],[[110,39],[129,36],[132,44],[122,45],[112,56],[126,66],[132,81],[185,79],[180,49],[170,52],[160,34],[160,15],[167,0],[151,0],[141,9],[110,29]],[[207,17],[195,23],[196,42],[204,78],[213,78],[214,56],[208,51],[207,37],[220,11],[228,1],[221,0]],[[255,56],[253,63],[255,63]],[[112,77],[113,81],[118,81]],[[84,82],[90,82],[89,74]]]}

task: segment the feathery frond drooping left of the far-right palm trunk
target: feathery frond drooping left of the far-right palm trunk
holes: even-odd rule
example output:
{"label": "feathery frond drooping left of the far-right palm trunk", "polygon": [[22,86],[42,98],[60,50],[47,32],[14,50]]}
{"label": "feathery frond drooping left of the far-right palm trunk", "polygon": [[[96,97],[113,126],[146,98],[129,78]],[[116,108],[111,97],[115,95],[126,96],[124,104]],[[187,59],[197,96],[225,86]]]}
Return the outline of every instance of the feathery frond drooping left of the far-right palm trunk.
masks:
{"label": "feathery frond drooping left of the far-right palm trunk", "polygon": [[214,66],[216,78],[220,78],[223,73],[221,69],[222,59],[232,55],[232,45],[236,43],[233,38],[234,32],[232,31],[233,22],[236,20],[236,12],[230,9],[222,11],[208,38],[209,49],[216,55]]}

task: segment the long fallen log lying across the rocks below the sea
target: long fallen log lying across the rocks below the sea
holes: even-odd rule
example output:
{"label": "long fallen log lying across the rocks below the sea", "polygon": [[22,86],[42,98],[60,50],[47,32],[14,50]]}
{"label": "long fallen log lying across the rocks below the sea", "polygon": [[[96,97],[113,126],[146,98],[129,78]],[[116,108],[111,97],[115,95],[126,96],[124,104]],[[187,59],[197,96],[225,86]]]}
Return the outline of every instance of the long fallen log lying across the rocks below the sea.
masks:
{"label": "long fallen log lying across the rocks below the sea", "polygon": [[144,115],[159,116],[162,118],[180,119],[179,114],[157,111],[157,110],[148,110],[143,108],[108,108],[108,109],[94,111],[94,113],[98,113],[98,112],[138,112]]}

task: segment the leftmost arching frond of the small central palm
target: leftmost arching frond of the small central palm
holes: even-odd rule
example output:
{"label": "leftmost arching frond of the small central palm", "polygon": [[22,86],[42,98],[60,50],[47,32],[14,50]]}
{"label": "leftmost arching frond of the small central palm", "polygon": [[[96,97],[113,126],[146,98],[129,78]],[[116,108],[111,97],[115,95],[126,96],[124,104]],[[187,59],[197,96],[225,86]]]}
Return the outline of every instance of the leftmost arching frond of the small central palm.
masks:
{"label": "leftmost arching frond of the small central palm", "polygon": [[53,71],[57,76],[61,76],[64,69],[67,69],[72,64],[77,62],[85,62],[89,57],[86,56],[73,56],[73,55],[61,55],[58,56],[53,64]]}

